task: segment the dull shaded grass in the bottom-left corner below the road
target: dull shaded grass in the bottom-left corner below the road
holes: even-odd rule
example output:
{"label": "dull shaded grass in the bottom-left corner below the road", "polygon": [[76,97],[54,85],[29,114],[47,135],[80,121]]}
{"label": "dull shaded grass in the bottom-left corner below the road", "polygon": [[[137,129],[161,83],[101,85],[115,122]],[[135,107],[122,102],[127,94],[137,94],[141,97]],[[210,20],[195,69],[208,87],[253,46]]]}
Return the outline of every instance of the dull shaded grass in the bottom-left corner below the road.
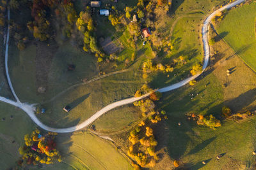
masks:
{"label": "dull shaded grass in the bottom-left corner below the road", "polygon": [[26,113],[9,104],[0,103],[0,110],[0,118],[5,118],[0,122],[0,164],[2,169],[8,169],[15,166],[15,161],[20,157],[18,149],[23,145],[24,135],[33,131],[35,124]]}

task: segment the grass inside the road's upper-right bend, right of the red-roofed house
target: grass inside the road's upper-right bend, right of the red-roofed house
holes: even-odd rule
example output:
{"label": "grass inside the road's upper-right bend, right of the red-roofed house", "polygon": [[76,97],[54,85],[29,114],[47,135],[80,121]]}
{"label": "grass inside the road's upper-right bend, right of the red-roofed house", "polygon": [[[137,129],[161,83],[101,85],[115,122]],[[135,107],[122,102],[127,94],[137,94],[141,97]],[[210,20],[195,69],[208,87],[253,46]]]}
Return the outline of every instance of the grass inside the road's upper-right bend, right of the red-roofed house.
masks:
{"label": "grass inside the road's upper-right bend, right of the red-roofed house", "polygon": [[168,64],[173,59],[183,56],[187,63],[184,66],[175,66],[172,73],[154,73],[151,82],[152,87],[160,88],[176,83],[190,76],[191,67],[202,62],[204,53],[202,52],[201,39],[198,38],[200,37],[200,27],[197,26],[200,24],[200,18],[202,15],[183,17],[178,20],[172,33],[172,53],[164,54],[162,60],[164,64]]}

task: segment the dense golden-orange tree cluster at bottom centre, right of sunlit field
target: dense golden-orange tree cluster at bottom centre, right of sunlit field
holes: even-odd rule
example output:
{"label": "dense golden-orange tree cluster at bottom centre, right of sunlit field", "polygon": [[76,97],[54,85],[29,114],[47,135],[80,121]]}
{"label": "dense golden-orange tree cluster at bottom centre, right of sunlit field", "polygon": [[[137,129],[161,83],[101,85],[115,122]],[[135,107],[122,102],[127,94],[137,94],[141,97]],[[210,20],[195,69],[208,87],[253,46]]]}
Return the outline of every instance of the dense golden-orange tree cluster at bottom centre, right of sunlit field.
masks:
{"label": "dense golden-orange tree cluster at bottom centre, right of sunlit field", "polygon": [[[145,127],[145,122],[141,122],[129,135],[129,150],[127,154],[134,159],[141,167],[154,167],[159,160],[155,152],[157,141],[154,138],[153,129]],[[136,166],[138,169],[138,166]]]}

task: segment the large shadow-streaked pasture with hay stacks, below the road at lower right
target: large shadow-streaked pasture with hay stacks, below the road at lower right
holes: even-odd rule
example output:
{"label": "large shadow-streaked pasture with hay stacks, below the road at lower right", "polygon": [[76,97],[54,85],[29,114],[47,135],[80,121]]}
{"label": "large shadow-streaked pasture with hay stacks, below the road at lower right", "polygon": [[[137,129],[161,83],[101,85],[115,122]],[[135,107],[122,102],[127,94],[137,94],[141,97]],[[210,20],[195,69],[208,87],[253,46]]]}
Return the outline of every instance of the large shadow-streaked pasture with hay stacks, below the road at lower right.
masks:
{"label": "large shadow-streaked pasture with hay stacks, below the road at lower right", "polygon": [[[204,78],[195,87],[187,85],[163,94],[159,102],[169,117],[168,153],[191,169],[253,169],[255,117],[240,123],[224,121],[214,131],[196,125],[185,116],[186,113],[212,114],[221,119],[224,105],[230,107],[233,113],[255,110],[256,74],[223,41],[212,48],[212,53],[218,53]],[[227,76],[227,69],[230,68],[234,71]],[[193,99],[189,94],[193,94]],[[220,153],[225,153],[225,156],[217,160],[216,156]],[[205,166],[203,160],[207,162]]]}

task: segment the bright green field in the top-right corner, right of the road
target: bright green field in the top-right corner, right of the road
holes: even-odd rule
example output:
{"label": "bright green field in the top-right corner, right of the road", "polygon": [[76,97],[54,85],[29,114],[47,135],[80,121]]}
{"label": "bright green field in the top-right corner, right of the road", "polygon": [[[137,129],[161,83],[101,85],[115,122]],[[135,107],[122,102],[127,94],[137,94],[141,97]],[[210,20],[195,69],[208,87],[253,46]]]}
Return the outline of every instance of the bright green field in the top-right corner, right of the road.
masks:
{"label": "bright green field in the top-right corner, right of the road", "polygon": [[256,3],[246,4],[235,10],[228,11],[225,18],[218,25],[218,32],[225,41],[234,48],[241,59],[256,71]]}

